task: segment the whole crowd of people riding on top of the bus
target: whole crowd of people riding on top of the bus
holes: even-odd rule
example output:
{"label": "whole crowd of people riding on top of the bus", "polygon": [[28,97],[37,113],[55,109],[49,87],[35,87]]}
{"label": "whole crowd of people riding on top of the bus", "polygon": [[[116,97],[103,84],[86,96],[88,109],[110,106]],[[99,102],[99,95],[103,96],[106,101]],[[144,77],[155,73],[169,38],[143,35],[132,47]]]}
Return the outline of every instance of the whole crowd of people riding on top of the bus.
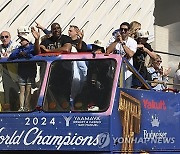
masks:
{"label": "whole crowd of people riding on top of the bus", "polygon": [[[40,37],[39,30],[44,32],[45,35],[43,37]],[[171,71],[171,68],[163,70],[161,67],[161,56],[156,54],[151,45],[147,43],[149,32],[147,30],[141,30],[141,24],[137,21],[121,23],[120,27],[112,33],[112,37],[109,39],[106,47],[98,45],[99,40],[96,40],[94,44],[86,44],[86,42],[83,41],[84,31],[75,25],[70,25],[68,35],[64,35],[58,23],[53,23],[51,30],[48,30],[36,22],[36,27],[19,27],[17,36],[19,42],[13,42],[8,31],[0,33],[2,42],[2,44],[0,44],[1,58],[7,57],[8,60],[31,58],[34,55],[49,52],[70,53],[90,51],[95,54],[120,54],[135,67],[137,72],[141,74],[145,80],[151,81],[151,86],[155,90],[163,90],[166,88],[165,83],[168,81],[168,75]],[[34,37],[34,41],[32,40],[32,36]],[[146,61],[147,55],[150,57],[148,65]],[[83,63],[77,63],[76,65],[81,65],[81,68],[85,68]],[[20,111],[28,108],[28,104],[24,104],[24,100],[29,99],[30,89],[35,78],[35,73],[24,75],[23,69],[25,68],[29,69],[29,72],[33,72],[33,70],[36,69],[35,66],[30,67],[28,64],[27,66],[18,66]],[[126,69],[124,75],[127,88],[143,87],[142,83],[130,70]],[[175,73],[174,83],[176,84],[174,88],[179,89],[180,64]]]}

